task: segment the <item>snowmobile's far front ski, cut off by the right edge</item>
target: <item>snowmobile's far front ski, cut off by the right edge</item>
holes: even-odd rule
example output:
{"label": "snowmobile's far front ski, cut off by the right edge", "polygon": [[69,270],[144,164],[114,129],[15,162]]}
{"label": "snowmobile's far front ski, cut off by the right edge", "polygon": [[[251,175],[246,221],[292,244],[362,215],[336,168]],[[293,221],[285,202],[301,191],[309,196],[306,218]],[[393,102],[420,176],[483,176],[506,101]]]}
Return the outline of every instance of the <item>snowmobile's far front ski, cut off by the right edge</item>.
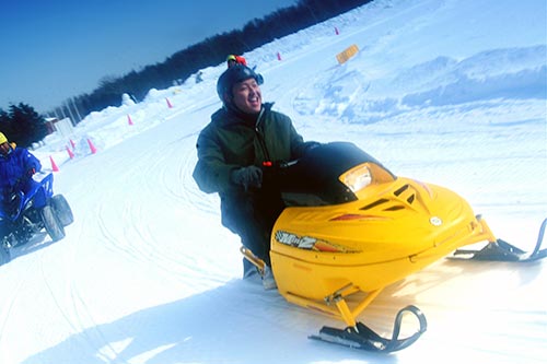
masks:
{"label": "snowmobile's far front ski, cut off by the right edge", "polygon": [[497,239],[490,242],[480,250],[457,249],[450,259],[462,260],[482,260],[482,261],[516,261],[529,262],[547,257],[547,248],[542,249],[547,219],[545,219],[539,227],[536,246],[532,253],[526,253],[519,249],[514,245],[505,240]]}

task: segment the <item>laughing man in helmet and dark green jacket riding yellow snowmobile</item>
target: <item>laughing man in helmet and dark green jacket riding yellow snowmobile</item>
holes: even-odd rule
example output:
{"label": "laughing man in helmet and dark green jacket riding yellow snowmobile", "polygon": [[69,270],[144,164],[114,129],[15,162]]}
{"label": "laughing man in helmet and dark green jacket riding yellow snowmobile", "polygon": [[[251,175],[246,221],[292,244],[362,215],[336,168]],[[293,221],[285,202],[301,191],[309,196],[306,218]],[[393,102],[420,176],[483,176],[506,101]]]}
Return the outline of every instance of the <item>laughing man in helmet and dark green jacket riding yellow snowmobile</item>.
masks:
{"label": "laughing man in helmet and dark green jacket riding yellow snowmobile", "polygon": [[266,262],[263,283],[274,289],[270,233],[284,206],[279,191],[263,188],[263,167],[299,157],[313,143],[274,104],[263,104],[261,80],[242,64],[221,74],[217,92],[223,106],[199,134],[194,178],[203,192],[219,193],[222,224]]}

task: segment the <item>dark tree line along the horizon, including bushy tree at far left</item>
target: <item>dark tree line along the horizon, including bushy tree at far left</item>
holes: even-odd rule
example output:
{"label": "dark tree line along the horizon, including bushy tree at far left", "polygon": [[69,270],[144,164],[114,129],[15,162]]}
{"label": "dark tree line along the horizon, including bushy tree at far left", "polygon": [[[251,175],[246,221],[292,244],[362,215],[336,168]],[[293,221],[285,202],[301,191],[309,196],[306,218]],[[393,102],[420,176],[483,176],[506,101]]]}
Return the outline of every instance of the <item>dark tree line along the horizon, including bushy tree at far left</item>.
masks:
{"label": "dark tree line along the horizon, including bushy tree at far left", "polygon": [[[201,69],[222,63],[228,55],[251,51],[276,38],[296,33],[371,1],[373,0],[299,0],[295,5],[279,9],[263,19],[249,21],[241,30],[217,34],[179,50],[164,62],[147,66],[140,71],[132,70],[119,78],[104,78],[97,89],[91,93],[71,97],[63,103],[63,107],[72,114],[73,118],[77,115],[74,124],[80,122],[80,115],[100,111],[108,106],[119,106],[124,93],[141,101],[151,89],[167,89],[173,85],[174,80],[184,82]],[[75,113],[72,113],[72,109]],[[45,137],[44,130],[47,133],[45,127],[31,128],[28,126],[32,122],[45,124],[44,118],[37,116],[38,119],[36,119],[32,111],[34,109],[24,104],[10,106],[9,113],[0,108],[0,127],[2,130],[13,132],[11,138],[19,140],[22,145],[30,145],[28,142],[42,140]],[[48,114],[56,115],[57,113],[54,109]],[[22,122],[21,115],[28,117],[28,121]],[[21,125],[18,125],[19,122]],[[34,137],[23,137],[22,132],[32,132]]]}

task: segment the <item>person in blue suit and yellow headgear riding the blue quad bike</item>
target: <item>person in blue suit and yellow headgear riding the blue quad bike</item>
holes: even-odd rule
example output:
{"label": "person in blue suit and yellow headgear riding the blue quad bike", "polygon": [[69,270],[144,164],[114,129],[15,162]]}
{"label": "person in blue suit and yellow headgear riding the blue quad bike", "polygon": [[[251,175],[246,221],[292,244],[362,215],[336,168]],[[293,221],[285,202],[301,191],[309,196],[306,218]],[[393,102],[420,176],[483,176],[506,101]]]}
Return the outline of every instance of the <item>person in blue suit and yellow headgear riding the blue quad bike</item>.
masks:
{"label": "person in blue suit and yellow headgear riding the blue quad bike", "polygon": [[[0,132],[0,209],[12,213],[19,191],[28,192],[33,184],[32,176],[42,169],[39,160],[25,148],[14,146]],[[2,232],[3,226],[0,226]]]}

